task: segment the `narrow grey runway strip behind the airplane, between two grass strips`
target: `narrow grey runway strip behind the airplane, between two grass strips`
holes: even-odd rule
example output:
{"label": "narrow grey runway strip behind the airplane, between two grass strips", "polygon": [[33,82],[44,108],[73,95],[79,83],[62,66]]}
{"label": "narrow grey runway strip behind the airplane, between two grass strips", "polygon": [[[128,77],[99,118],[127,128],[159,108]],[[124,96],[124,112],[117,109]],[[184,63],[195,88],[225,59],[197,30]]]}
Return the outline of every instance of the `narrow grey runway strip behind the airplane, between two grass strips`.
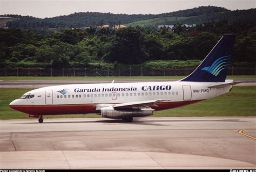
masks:
{"label": "narrow grey runway strip behind the airplane, between two grass strips", "polygon": [[[232,80],[232,79],[231,79]],[[254,78],[241,78],[233,79],[234,81],[244,81],[234,85],[238,86],[256,86],[256,79]],[[176,79],[163,80],[163,79],[154,79],[154,80],[115,80],[115,83],[129,83],[129,82],[171,82],[178,81]],[[53,85],[65,85],[65,84],[96,84],[96,83],[111,83],[112,80],[84,80],[84,81],[48,81],[48,80],[30,80],[30,81],[0,81],[0,88],[41,88],[48,87]]]}

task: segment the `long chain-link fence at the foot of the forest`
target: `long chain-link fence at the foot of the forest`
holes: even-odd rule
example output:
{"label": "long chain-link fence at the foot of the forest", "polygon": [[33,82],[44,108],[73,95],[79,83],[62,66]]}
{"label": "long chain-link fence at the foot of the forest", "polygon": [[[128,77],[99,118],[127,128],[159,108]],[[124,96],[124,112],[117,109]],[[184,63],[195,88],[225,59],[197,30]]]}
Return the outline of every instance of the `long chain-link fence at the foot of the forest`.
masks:
{"label": "long chain-link fence at the foot of the forest", "polygon": [[[196,69],[184,68],[1,68],[0,76],[175,76]],[[230,67],[228,75],[256,75],[256,67]]]}

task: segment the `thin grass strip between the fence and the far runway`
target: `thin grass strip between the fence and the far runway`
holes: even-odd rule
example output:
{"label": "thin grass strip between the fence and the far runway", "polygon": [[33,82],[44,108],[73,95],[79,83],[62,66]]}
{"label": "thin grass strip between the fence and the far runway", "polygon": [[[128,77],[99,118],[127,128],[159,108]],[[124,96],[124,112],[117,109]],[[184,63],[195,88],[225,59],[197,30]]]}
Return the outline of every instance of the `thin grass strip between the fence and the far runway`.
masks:
{"label": "thin grass strip between the fence and the far runway", "polygon": [[[171,80],[182,79],[186,76],[0,76],[3,81],[17,80],[60,80],[60,81],[79,81],[79,80]],[[256,78],[256,75],[229,75],[227,78]]]}

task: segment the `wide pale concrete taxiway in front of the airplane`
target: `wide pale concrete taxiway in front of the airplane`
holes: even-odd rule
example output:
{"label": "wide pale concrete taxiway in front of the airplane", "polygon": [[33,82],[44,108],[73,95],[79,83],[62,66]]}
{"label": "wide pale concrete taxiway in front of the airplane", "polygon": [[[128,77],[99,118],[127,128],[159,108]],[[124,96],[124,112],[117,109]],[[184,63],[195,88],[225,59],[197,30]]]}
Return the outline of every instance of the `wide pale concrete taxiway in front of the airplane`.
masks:
{"label": "wide pale concrete taxiway in front of the airplane", "polygon": [[0,120],[2,169],[255,169],[255,117]]}

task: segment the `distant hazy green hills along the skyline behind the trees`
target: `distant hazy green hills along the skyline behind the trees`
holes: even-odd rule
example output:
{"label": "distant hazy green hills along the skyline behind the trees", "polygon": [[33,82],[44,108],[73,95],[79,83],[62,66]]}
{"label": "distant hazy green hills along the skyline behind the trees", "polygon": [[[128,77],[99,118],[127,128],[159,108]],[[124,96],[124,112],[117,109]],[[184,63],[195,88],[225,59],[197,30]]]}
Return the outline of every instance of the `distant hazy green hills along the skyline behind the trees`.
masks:
{"label": "distant hazy green hills along the skyline behind the trees", "polygon": [[78,12],[68,16],[59,16],[52,18],[35,18],[31,16],[4,15],[4,17],[18,18],[18,20],[10,21],[6,26],[17,27],[23,29],[31,28],[78,28],[88,26],[103,26],[133,23],[140,20],[162,18],[162,17],[191,17],[202,16],[210,13],[227,12],[225,8],[216,6],[200,6],[198,8],[180,10],[169,13],[161,13],[159,15],[126,15],[100,12]]}

